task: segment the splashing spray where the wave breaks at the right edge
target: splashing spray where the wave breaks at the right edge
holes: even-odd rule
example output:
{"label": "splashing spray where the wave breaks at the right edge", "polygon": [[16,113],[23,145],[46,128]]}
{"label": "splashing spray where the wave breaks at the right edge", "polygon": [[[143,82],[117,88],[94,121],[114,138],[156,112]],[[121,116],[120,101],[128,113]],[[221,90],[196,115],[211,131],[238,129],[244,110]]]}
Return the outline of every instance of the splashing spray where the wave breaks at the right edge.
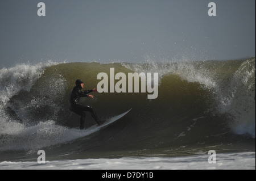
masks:
{"label": "splashing spray where the wave breaks at the right edge", "polygon": [[255,58],[242,62],[218,95],[219,109],[229,113],[234,132],[255,138]]}

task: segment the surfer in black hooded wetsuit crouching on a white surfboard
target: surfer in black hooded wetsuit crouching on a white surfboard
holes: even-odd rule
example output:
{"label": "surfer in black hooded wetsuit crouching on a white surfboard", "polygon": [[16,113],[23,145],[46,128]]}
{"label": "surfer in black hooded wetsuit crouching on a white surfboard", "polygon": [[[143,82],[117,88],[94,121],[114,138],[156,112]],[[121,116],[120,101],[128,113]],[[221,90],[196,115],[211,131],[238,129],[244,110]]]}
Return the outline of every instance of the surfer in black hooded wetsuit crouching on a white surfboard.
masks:
{"label": "surfer in black hooded wetsuit crouching on a white surfboard", "polygon": [[90,92],[97,92],[97,89],[93,90],[85,90],[81,91],[81,89],[84,88],[84,82],[81,79],[76,80],[76,86],[72,89],[70,95],[69,95],[69,109],[77,115],[80,115],[80,129],[84,129],[84,121],[85,121],[85,111],[90,112],[90,115],[92,115],[93,119],[96,121],[98,125],[100,125],[100,121],[98,120],[98,117],[96,115],[96,112],[93,110],[91,106],[86,106],[84,104],[80,104],[79,100],[81,97],[89,97],[93,98],[93,95],[87,95]]}

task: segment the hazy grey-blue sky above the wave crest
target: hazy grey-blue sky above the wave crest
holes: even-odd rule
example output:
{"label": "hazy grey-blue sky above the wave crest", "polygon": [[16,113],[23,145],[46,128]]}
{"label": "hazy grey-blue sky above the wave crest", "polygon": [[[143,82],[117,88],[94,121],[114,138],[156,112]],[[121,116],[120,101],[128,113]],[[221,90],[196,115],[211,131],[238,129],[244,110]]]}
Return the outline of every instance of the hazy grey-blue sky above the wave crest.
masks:
{"label": "hazy grey-blue sky above the wave crest", "polygon": [[255,0],[0,0],[0,26],[0,68],[255,56]]}

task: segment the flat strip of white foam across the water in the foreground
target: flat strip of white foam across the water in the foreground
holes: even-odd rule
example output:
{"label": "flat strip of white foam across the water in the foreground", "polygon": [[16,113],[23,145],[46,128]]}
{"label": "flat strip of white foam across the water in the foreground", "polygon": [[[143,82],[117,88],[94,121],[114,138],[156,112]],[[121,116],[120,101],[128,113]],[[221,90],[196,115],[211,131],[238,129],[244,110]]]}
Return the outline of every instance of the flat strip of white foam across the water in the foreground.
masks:
{"label": "flat strip of white foam across the water in the foreground", "polygon": [[116,159],[76,159],[34,162],[0,162],[0,169],[26,170],[255,170],[255,152],[216,154],[216,163],[208,154],[187,157],[138,157]]}

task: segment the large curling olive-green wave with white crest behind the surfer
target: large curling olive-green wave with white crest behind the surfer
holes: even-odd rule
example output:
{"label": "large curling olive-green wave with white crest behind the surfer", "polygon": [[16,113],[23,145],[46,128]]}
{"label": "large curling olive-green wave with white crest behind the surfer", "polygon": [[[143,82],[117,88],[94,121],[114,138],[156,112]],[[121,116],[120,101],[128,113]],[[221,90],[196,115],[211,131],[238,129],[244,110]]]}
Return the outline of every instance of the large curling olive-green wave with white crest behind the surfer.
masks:
{"label": "large curling olive-green wave with white crest behind the surfer", "polygon": [[[69,92],[76,79],[85,82],[85,89],[96,88],[98,73],[109,75],[110,68],[126,75],[158,73],[158,98],[147,99],[143,92],[93,92],[96,99],[81,102],[93,106],[101,119],[133,109],[100,132],[80,131],[79,116],[68,109]],[[2,159],[39,149],[51,150],[55,158],[65,153],[88,158],[255,150],[255,58],[23,64],[0,70],[0,83]],[[93,124],[88,113],[86,127]]]}

